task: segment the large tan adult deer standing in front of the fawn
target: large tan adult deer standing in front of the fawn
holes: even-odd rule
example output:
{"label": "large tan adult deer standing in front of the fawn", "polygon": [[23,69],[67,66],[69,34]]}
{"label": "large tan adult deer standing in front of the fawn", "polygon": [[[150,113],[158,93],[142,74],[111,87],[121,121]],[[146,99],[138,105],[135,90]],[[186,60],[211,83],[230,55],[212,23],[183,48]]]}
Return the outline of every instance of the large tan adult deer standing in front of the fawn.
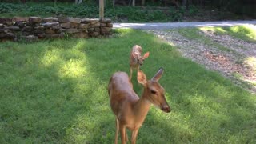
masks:
{"label": "large tan adult deer standing in front of the fawn", "polygon": [[153,104],[163,112],[170,113],[170,106],[166,102],[165,90],[158,83],[162,77],[163,69],[150,80],[146,79],[146,74],[142,70],[137,72],[138,83],[142,84],[143,92],[139,98],[134,92],[128,74],[116,72],[110,78],[108,94],[110,96],[110,107],[115,115],[116,131],[114,143],[118,143],[118,134],[121,134],[122,144],[128,141],[126,128],[132,131],[131,143],[136,143],[139,128],[142,126],[150,106]]}

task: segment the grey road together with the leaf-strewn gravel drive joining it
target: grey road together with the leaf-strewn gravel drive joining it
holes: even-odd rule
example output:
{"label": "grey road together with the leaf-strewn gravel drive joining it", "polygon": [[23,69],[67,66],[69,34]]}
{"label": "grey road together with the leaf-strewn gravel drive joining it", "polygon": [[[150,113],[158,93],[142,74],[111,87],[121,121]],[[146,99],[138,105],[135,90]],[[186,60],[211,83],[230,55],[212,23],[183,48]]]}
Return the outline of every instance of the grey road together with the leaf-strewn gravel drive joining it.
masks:
{"label": "grey road together with the leaf-strewn gravel drive joining it", "polygon": [[[253,21],[226,22],[167,22],[167,23],[114,23],[115,28],[132,28],[146,30],[158,38],[176,46],[181,54],[194,62],[205,66],[208,70],[218,71],[230,78],[238,86],[256,93],[256,43],[246,42],[230,35],[215,34],[211,30],[201,30],[200,34],[210,39],[210,43],[201,39],[188,39],[178,33],[175,28],[214,27],[250,25],[256,29]],[[218,46],[228,50],[220,50]]]}

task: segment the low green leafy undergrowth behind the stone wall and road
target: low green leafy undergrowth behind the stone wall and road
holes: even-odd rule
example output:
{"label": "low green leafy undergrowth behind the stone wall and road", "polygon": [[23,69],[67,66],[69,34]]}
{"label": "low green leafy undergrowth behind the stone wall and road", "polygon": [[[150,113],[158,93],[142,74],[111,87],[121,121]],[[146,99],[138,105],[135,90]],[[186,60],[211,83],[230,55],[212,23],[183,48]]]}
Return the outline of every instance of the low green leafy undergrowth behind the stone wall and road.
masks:
{"label": "low green leafy undergrowth behind the stone wall and road", "polygon": [[[98,18],[98,4],[95,2],[83,2],[80,5],[74,3],[58,2],[27,2],[26,5],[21,3],[1,3],[0,16],[42,16],[42,17],[59,17],[70,16],[78,18]],[[192,14],[191,12],[189,12]],[[155,7],[132,7],[132,6],[111,6],[110,2],[106,3],[105,17],[111,18],[116,22],[177,22],[181,21],[186,14],[184,8],[161,10]],[[194,13],[193,13],[194,14]]]}

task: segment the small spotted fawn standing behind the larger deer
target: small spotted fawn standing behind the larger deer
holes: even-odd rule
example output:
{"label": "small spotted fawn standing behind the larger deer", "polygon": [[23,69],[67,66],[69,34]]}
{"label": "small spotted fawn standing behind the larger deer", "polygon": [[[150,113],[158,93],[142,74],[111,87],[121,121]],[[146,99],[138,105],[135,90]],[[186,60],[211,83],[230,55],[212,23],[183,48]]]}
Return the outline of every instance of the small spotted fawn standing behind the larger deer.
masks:
{"label": "small spotted fawn standing behind the larger deer", "polygon": [[133,69],[138,70],[142,66],[144,60],[150,56],[150,52],[146,52],[142,56],[142,47],[135,45],[130,51],[130,81],[133,75]]}

